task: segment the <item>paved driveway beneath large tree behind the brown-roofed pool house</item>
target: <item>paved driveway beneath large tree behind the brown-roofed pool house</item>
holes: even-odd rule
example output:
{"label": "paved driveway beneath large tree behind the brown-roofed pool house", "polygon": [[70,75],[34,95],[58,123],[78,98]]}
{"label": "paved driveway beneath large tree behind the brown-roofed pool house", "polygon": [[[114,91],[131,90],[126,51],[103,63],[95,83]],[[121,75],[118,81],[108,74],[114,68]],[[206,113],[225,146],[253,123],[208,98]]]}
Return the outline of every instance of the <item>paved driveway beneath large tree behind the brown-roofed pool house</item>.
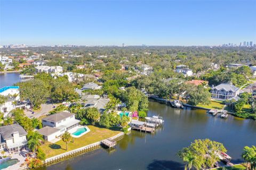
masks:
{"label": "paved driveway beneath large tree behind the brown-roofed pool house", "polygon": [[31,111],[24,111],[25,112],[25,114],[26,114],[26,116],[28,116],[28,117],[36,117],[36,118],[38,118],[38,117],[40,117],[40,116],[43,116],[43,115],[47,115],[50,111],[52,111],[54,108],[54,106],[55,107],[57,107],[59,104],[42,104],[41,105],[41,110],[40,111],[35,111],[35,113],[34,114],[32,114],[32,112]]}

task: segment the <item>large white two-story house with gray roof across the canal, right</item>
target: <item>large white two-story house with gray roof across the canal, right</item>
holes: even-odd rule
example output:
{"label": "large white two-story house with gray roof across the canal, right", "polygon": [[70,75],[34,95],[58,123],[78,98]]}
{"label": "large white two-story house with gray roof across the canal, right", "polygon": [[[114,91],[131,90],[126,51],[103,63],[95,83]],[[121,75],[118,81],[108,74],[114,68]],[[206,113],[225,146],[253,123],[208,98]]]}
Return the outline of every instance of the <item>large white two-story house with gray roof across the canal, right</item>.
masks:
{"label": "large white two-story house with gray roof across the canal, right", "polygon": [[240,94],[240,89],[228,83],[219,84],[212,87],[212,99],[227,100]]}

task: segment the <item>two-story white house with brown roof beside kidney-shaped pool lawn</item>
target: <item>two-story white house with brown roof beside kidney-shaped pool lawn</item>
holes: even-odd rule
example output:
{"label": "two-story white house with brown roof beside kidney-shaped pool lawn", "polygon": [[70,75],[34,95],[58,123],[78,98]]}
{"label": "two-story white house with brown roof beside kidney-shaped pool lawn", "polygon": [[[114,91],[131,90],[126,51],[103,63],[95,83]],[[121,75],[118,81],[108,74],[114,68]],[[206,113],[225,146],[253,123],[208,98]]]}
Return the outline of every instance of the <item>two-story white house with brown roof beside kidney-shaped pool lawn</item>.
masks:
{"label": "two-story white house with brown roof beside kidney-shaped pool lawn", "polygon": [[43,135],[44,140],[53,141],[66,131],[74,131],[79,122],[79,120],[75,119],[75,114],[60,112],[42,118],[43,128],[37,132]]}

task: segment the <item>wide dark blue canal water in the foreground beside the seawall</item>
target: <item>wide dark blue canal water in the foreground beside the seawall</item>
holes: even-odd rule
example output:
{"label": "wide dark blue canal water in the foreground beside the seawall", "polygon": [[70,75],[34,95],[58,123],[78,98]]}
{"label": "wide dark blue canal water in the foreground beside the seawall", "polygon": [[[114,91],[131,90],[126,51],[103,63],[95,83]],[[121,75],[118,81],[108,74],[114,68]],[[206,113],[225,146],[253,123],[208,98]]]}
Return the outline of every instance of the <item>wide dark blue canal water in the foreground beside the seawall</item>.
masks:
{"label": "wide dark blue canal water in the foreground beside the seawall", "polygon": [[153,135],[132,131],[117,142],[116,149],[97,149],[41,169],[184,169],[176,154],[195,139],[223,143],[233,163],[242,162],[244,146],[256,145],[256,122],[229,115],[222,119],[202,109],[177,109],[153,101],[148,116],[163,116],[165,122]]}

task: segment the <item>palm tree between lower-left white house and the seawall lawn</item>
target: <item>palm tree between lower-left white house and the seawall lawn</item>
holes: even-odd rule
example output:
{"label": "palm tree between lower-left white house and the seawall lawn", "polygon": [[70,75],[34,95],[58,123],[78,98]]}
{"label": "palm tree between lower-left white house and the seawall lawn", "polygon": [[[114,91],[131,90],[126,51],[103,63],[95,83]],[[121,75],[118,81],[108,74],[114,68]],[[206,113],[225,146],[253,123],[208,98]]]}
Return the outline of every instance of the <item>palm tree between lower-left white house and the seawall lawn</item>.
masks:
{"label": "palm tree between lower-left white house and the seawall lawn", "polygon": [[28,133],[28,148],[36,154],[37,148],[41,145],[39,140],[44,140],[43,135],[39,134],[37,131],[30,131]]}

